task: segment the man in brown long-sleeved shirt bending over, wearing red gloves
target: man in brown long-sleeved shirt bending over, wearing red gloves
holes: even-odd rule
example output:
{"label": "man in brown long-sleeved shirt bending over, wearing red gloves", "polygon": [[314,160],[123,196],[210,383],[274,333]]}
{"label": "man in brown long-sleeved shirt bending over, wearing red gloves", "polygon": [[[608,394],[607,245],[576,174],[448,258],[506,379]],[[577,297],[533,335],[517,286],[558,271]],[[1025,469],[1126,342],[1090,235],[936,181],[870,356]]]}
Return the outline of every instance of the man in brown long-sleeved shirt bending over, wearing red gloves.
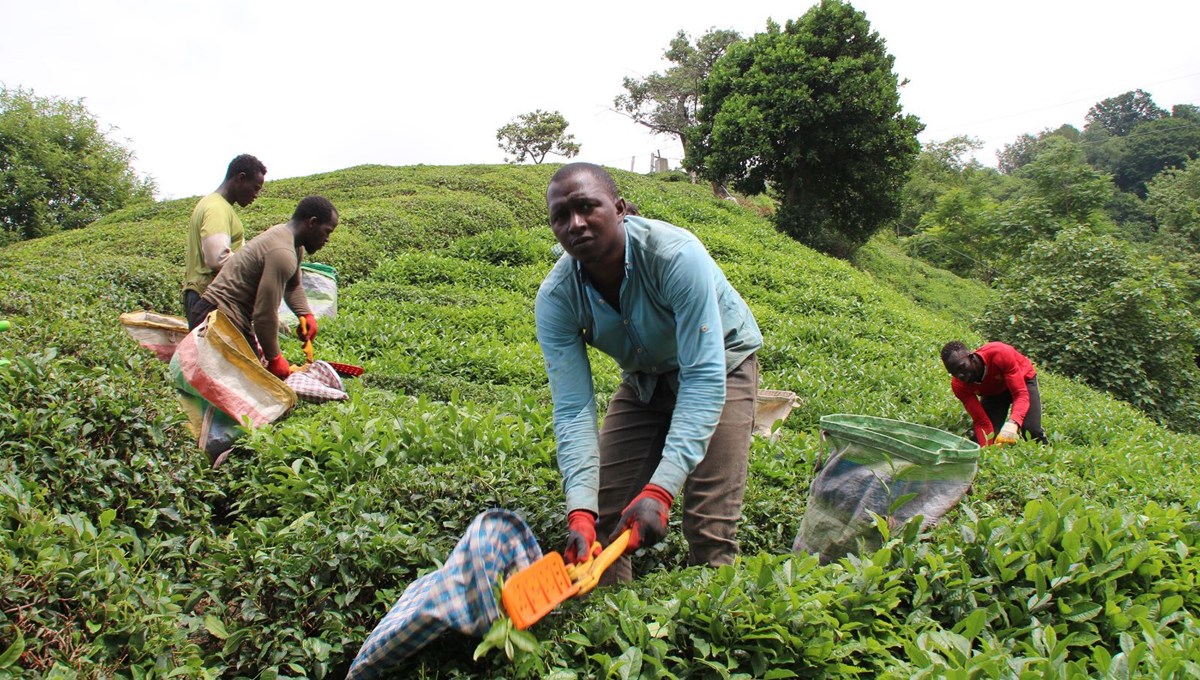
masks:
{"label": "man in brown long-sleeved shirt bending over, wearing red gloves", "polygon": [[[292,219],[276,224],[251,239],[217,272],[200,296],[197,311],[206,317],[212,309],[229,318],[251,348],[259,345],[266,369],[283,380],[290,373],[280,353],[280,300],[286,300],[296,317],[306,319],[306,333],[317,335],[317,319],[300,284],[304,253],[319,251],[337,228],[337,209],[323,195],[310,195],[296,205]],[[256,343],[257,341],[257,343]]]}

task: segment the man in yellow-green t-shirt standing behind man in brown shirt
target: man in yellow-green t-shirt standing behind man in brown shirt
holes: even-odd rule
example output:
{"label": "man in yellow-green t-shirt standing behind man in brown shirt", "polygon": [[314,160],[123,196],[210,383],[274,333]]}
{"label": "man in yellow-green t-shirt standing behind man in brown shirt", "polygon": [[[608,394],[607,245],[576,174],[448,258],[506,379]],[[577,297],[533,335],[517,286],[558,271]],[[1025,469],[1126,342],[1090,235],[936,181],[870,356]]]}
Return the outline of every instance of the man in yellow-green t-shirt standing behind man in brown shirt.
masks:
{"label": "man in yellow-green t-shirt standing behind man in brown shirt", "polygon": [[242,154],[229,162],[226,179],[217,191],[202,198],[192,210],[184,255],[184,314],[188,329],[204,320],[196,313],[197,301],[229,255],[245,241],[245,230],[233,211],[233,204],[246,207],[254,203],[265,179],[266,166],[250,154]]}

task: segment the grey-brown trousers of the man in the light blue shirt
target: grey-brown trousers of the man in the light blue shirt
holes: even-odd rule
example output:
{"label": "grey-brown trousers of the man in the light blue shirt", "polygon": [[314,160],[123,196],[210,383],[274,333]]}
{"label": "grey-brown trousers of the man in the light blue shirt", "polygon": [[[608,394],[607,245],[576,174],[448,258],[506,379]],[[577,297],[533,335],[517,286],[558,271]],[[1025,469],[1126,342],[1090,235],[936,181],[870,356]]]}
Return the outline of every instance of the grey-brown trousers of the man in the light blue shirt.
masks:
{"label": "grey-brown trousers of the man in the light blue shirt", "polygon": [[[708,443],[704,458],[683,487],[683,535],[688,564],[721,566],[738,554],[737,523],[746,486],[755,398],[758,395],[758,356],[750,355],[725,378],[725,408]],[[596,531],[606,541],[620,512],[642,492],[662,459],[676,395],[660,380],[649,403],[622,385],[608,402],[600,428],[600,518]],[[605,572],[601,583],[630,580],[632,564],[623,556]]]}

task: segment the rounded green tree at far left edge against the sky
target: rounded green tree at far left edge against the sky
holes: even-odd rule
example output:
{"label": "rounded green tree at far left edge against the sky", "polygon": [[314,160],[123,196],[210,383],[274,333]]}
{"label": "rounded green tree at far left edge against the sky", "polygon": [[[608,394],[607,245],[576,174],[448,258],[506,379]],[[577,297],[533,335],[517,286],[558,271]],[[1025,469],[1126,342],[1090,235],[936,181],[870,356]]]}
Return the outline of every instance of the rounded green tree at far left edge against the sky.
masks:
{"label": "rounded green tree at far left edge against the sky", "polygon": [[0,88],[0,243],[154,198],[154,180],[133,170],[133,151],[109,132],[82,100]]}

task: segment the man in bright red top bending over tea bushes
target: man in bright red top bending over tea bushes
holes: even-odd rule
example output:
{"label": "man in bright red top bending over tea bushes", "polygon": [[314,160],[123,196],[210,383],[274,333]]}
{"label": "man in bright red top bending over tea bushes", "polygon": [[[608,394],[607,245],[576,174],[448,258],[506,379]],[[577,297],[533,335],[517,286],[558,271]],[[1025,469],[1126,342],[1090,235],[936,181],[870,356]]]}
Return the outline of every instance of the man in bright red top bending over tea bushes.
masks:
{"label": "man in bright red top bending over tea bushes", "polygon": [[[1014,444],[1024,434],[1046,444],[1038,372],[1013,345],[990,342],[971,351],[959,341],[942,348],[950,389],[974,423],[980,446]],[[1012,407],[1012,413],[1009,413]],[[994,423],[1004,423],[996,433]]]}

